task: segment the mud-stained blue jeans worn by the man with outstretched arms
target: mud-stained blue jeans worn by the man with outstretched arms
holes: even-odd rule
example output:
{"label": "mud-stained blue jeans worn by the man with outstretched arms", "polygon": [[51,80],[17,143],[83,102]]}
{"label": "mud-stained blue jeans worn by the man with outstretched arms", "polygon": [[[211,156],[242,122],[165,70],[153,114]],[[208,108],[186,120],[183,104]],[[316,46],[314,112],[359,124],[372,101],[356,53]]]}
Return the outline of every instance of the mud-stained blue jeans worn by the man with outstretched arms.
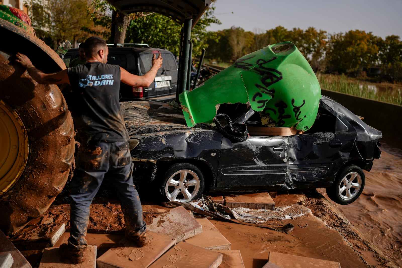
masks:
{"label": "mud-stained blue jeans worn by the man with outstretched arms", "polygon": [[115,186],[130,233],[146,231],[142,207],[132,178],[133,164],[128,142],[101,142],[94,146],[81,145],[76,158],[76,173],[70,184],[71,216],[68,244],[80,249],[86,247],[89,206],[107,173]]}

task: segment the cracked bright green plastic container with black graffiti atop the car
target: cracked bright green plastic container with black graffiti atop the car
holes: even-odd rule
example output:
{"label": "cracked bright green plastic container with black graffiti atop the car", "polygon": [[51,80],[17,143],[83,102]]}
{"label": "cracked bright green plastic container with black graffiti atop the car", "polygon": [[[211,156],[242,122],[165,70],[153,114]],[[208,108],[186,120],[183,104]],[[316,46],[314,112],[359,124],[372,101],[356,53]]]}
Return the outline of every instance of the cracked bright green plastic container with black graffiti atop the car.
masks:
{"label": "cracked bright green plastic container with black graffiti atop the car", "polygon": [[238,59],[193,91],[180,94],[187,126],[212,123],[219,104],[250,103],[276,127],[309,129],[321,88],[310,64],[291,42],[269,45]]}

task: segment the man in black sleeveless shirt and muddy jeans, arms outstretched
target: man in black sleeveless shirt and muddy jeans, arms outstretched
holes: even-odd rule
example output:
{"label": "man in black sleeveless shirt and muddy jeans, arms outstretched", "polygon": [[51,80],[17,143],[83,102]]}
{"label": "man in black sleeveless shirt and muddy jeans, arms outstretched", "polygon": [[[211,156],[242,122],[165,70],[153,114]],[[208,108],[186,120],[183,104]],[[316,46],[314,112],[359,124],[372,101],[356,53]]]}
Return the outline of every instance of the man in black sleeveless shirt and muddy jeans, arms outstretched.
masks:
{"label": "man in black sleeveless shirt and muddy jeans, arms outstretched", "polygon": [[133,185],[133,164],[128,133],[119,106],[120,82],[131,86],[149,86],[162,67],[162,57],[152,58],[152,68],[144,76],[130,74],[118,65],[109,65],[106,42],[90,37],[84,43],[86,64],[56,74],[44,74],[27,56],[18,53],[16,61],[27,68],[40,84],[71,85],[74,99],[74,125],[81,146],[76,158],[76,172],[70,183],[71,215],[68,244],[60,254],[74,263],[84,261],[89,207],[105,174],[111,177],[121,203],[126,225],[125,236],[139,247],[148,243],[146,225],[137,190]]}

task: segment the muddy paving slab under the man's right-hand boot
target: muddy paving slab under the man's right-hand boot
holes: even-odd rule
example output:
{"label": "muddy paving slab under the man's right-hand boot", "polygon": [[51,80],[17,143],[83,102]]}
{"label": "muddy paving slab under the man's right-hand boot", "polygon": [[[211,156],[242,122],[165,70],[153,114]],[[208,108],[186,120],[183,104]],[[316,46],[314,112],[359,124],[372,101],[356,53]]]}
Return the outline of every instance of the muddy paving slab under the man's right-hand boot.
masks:
{"label": "muddy paving slab under the man's right-hand boot", "polygon": [[146,268],[169,250],[176,240],[164,234],[147,231],[149,243],[139,248],[134,242],[123,238],[96,260],[98,268]]}

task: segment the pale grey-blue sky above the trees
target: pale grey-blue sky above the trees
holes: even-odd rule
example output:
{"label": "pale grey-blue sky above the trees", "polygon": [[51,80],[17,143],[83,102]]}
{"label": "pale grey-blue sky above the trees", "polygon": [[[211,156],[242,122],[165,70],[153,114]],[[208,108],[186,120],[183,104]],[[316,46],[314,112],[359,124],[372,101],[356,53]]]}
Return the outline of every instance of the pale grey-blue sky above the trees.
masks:
{"label": "pale grey-blue sky above the trees", "polygon": [[[233,12],[233,13],[232,13]],[[382,37],[402,37],[402,0],[217,0],[221,25],[209,31],[241,27],[265,33],[279,25],[288,30],[315,27],[327,33],[363,30]]]}

